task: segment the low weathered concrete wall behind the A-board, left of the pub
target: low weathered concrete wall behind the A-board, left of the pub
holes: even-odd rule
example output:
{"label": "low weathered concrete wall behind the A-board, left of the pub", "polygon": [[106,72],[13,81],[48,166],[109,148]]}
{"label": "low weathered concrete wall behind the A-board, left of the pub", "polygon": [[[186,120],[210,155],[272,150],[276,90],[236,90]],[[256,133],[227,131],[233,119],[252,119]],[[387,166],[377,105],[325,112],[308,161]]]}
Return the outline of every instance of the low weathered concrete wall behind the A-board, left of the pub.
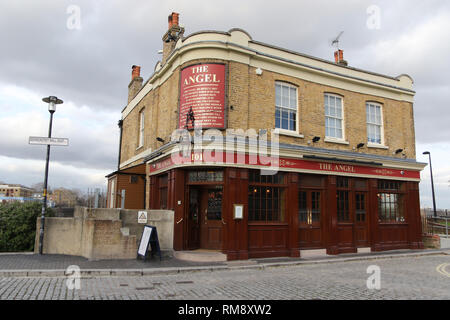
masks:
{"label": "low weathered concrete wall behind the A-board, left of the pub", "polygon": [[[149,210],[148,223],[157,227],[161,250],[173,250],[173,211]],[[41,219],[36,223],[39,248]],[[135,259],[144,224],[138,210],[76,207],[73,218],[46,218],[43,251],[83,256],[90,260]]]}

